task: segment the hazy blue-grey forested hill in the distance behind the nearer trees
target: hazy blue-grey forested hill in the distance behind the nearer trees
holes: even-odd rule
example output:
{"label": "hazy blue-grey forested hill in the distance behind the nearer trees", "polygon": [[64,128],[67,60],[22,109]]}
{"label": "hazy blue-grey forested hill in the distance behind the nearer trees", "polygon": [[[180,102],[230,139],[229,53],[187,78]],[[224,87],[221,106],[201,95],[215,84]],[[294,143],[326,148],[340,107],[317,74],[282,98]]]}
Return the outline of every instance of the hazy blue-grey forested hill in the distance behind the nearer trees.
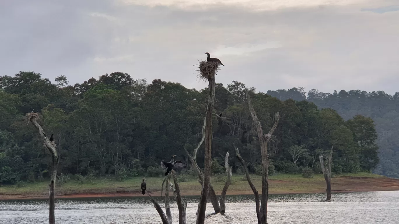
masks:
{"label": "hazy blue-grey forested hill in the distance behind the nearer trees", "polygon": [[[374,173],[399,178],[399,92],[393,96],[383,91],[341,90],[334,93],[304,88],[269,90],[267,94],[280,100],[308,100],[321,108],[332,108],[348,120],[360,114],[375,122],[380,163]],[[306,96],[307,95],[307,96]]]}

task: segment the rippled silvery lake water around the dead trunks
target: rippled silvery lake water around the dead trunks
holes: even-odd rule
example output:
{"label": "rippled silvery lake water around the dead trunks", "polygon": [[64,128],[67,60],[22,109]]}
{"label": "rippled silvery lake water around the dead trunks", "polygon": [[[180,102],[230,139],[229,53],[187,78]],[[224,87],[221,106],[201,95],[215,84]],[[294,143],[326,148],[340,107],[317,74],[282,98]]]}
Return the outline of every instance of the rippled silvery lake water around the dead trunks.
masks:
{"label": "rippled silvery lake water around the dead trunks", "polygon": [[[210,216],[205,223],[257,223],[253,196],[228,196],[226,216]],[[333,194],[271,195],[269,224],[398,224],[399,191]],[[161,204],[163,200],[157,198]],[[198,197],[186,197],[187,221],[195,223]],[[161,204],[161,206],[164,204]],[[163,206],[164,207],[164,206]],[[171,204],[178,223],[177,204]],[[0,200],[0,224],[48,223],[46,200]],[[211,204],[207,213],[213,212]],[[58,199],[55,219],[60,224],[162,223],[148,197]]]}

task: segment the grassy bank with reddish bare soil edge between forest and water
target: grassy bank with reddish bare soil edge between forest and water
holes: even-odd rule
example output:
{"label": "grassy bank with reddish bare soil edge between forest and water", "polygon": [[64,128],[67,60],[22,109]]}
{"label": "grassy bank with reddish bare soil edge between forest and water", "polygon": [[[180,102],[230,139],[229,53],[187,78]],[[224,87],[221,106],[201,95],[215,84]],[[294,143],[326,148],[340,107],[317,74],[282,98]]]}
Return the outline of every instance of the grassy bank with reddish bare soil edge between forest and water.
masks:
{"label": "grassy bank with reddish bare soil edge between forest and water", "polygon": [[[223,175],[212,177],[212,185],[217,194],[223,186]],[[164,177],[147,177],[147,189],[153,195],[160,195],[160,188]],[[233,175],[232,185],[227,191],[228,195],[252,194],[244,175]],[[253,183],[261,191],[261,176],[252,175]],[[116,181],[114,179],[95,179],[78,183],[69,180],[61,187],[56,187],[56,197],[91,197],[91,196],[142,196],[140,182],[142,177]],[[201,185],[196,178],[187,181],[180,180],[180,189],[183,195],[199,195]],[[270,177],[269,192],[271,194],[284,193],[323,193],[326,185],[322,175],[305,178],[302,175],[277,174]],[[395,191],[399,190],[399,180],[391,179],[370,173],[334,175],[332,178],[333,192],[357,191]],[[23,186],[1,186],[0,199],[17,198],[47,198],[48,181],[26,183]]]}

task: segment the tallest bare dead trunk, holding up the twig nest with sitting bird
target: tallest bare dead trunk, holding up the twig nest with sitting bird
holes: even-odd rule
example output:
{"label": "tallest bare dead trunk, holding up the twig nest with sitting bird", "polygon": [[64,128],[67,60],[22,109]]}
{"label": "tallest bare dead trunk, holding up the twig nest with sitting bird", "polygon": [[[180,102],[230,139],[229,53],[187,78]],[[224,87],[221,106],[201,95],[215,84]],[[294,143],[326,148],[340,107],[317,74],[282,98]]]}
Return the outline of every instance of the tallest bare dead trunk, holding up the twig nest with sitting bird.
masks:
{"label": "tallest bare dead trunk, holding up the twig nest with sitting bird", "polygon": [[[203,75],[204,76],[204,75]],[[205,169],[202,183],[201,196],[199,196],[198,210],[197,210],[197,224],[204,224],[205,210],[207,203],[207,195],[209,191],[209,183],[211,181],[211,152],[212,152],[212,111],[215,102],[215,70],[213,73],[208,73],[206,79],[209,83],[208,106],[205,117]]]}

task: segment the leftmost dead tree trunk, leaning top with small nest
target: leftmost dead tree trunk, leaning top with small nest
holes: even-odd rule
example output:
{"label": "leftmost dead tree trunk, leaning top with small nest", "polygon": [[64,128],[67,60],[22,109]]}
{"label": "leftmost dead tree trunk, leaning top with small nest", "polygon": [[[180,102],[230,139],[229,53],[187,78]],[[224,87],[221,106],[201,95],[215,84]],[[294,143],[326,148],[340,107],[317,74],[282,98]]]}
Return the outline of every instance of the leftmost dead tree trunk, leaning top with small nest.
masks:
{"label": "leftmost dead tree trunk, leaning top with small nest", "polygon": [[37,113],[28,113],[26,114],[29,122],[32,122],[36,128],[39,130],[39,134],[44,141],[45,147],[51,153],[52,163],[51,163],[51,180],[49,184],[49,224],[55,224],[55,202],[54,202],[54,194],[55,194],[55,180],[57,179],[57,168],[58,168],[58,154],[56,150],[55,143],[47,139],[47,135],[41,128],[40,124],[36,121],[39,118],[39,114]]}

